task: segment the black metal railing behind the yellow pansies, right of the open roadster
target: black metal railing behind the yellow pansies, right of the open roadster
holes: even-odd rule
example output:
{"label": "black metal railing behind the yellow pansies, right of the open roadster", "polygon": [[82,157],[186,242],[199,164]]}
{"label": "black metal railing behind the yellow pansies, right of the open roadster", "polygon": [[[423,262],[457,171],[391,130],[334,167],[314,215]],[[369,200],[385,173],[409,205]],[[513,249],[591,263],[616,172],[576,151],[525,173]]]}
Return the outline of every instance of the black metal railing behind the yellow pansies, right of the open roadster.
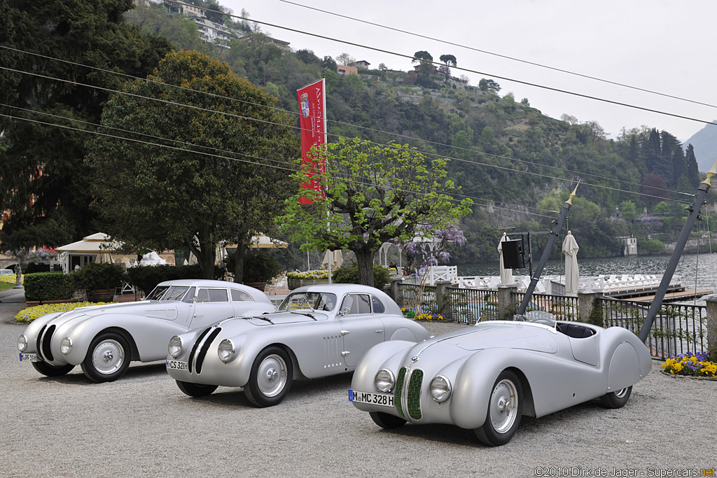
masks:
{"label": "black metal railing behind the yellow pansies, right of the open roadster", "polygon": [[[600,297],[605,327],[617,325],[640,333],[649,303]],[[657,312],[647,347],[653,357],[665,360],[680,353],[707,350],[707,307],[663,304]]]}

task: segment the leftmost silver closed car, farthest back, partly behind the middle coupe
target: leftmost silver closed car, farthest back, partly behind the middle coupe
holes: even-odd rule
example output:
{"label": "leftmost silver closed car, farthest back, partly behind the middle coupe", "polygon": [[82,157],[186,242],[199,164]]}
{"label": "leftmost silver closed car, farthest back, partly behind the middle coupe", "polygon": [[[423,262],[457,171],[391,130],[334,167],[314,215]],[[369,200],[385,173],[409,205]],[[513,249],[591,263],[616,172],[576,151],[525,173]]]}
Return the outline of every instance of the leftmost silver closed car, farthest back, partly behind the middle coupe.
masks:
{"label": "leftmost silver closed car, farthest back, partly behind the middle coupe", "polygon": [[95,382],[123,376],[130,360],[151,362],[166,356],[176,334],[235,315],[276,309],[264,292],[219,280],[161,282],[141,302],[80,307],[43,315],[17,342],[20,360],[46,376],[75,367]]}

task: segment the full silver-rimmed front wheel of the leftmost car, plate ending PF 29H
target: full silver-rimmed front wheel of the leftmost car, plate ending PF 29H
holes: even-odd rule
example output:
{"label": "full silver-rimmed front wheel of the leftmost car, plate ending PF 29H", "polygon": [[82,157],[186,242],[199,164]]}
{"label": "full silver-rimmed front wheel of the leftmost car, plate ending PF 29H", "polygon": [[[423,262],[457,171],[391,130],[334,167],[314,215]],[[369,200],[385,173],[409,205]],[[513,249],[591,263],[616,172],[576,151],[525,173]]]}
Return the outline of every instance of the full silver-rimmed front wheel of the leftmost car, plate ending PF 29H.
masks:
{"label": "full silver-rimmed front wheel of the leftmost car, plate ending PF 29H", "polygon": [[116,332],[102,332],[92,340],[82,361],[82,373],[93,382],[115,381],[130,366],[130,346]]}

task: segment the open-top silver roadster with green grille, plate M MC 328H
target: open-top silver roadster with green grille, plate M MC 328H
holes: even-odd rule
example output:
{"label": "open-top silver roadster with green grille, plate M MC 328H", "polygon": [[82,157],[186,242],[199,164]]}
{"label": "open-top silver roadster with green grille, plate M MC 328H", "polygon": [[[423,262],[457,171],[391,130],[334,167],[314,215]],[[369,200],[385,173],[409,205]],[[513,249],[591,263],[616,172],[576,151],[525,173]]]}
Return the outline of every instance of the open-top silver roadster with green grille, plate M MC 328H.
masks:
{"label": "open-top silver roadster with green grille, plate M MC 328H", "polygon": [[649,371],[650,353],[624,328],[544,316],[489,321],[424,343],[376,345],[353,373],[348,400],[385,429],[455,424],[498,446],[522,415],[598,397],[622,407]]}

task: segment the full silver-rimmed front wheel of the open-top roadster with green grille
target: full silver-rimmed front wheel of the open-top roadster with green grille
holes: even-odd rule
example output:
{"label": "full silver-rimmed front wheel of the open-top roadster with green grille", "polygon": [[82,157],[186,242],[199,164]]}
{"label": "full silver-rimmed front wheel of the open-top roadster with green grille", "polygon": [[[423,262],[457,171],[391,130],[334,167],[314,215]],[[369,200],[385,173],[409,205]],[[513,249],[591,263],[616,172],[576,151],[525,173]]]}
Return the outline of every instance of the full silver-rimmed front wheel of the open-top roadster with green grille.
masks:
{"label": "full silver-rimmed front wheel of the open-top roadster with green grille", "polygon": [[[516,403],[517,402],[517,403]],[[475,429],[478,441],[488,446],[505,445],[516,434],[523,416],[523,387],[516,373],[503,371],[495,379],[488,400],[485,422]]]}

